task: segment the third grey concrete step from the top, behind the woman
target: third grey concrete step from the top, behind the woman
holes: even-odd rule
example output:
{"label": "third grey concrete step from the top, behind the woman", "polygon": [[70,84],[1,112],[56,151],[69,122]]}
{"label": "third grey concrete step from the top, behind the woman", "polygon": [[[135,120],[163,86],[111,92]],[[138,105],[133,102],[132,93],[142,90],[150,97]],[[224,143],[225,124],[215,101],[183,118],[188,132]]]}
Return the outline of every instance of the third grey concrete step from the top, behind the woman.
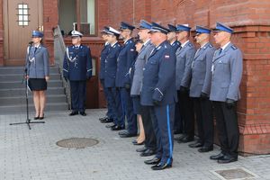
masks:
{"label": "third grey concrete step from the top, behind the woman", "polygon": [[[0,82],[0,89],[14,89],[22,88],[24,84],[22,81],[12,81],[12,82]],[[61,87],[63,82],[61,80],[49,80],[48,87]]]}

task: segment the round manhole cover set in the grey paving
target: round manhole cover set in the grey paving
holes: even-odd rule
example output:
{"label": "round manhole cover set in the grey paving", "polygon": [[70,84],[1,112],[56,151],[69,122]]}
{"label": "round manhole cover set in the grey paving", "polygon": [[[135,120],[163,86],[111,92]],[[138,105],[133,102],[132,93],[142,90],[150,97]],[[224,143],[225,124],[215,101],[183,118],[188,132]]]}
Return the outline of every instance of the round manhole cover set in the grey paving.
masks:
{"label": "round manhole cover set in the grey paving", "polygon": [[98,143],[98,140],[91,138],[70,138],[57,142],[59,147],[63,148],[86,148],[92,147]]}

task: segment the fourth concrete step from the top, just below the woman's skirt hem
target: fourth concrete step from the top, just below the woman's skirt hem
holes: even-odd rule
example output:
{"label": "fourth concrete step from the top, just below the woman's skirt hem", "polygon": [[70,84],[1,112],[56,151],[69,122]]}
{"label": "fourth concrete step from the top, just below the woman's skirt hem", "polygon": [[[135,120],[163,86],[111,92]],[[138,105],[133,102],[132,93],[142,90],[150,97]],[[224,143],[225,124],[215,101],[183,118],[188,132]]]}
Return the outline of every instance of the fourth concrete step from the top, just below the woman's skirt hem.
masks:
{"label": "fourth concrete step from the top, just below the woman's skirt hem", "polygon": [[[29,92],[29,94],[31,94]],[[65,94],[64,87],[48,87],[46,94]],[[0,89],[0,97],[25,95],[25,88]],[[1,103],[1,102],[0,102]]]}

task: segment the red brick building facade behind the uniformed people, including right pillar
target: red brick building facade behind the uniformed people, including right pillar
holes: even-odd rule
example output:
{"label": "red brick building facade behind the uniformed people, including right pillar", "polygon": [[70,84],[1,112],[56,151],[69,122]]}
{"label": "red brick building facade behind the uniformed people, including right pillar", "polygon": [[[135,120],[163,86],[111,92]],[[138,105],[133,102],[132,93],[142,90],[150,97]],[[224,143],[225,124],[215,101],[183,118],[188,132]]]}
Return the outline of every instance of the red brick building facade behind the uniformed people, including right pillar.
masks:
{"label": "red brick building facade behind the uniformed people, including right pillar", "polygon": [[[0,11],[2,11],[2,0]],[[4,65],[3,12],[0,12],[0,65]],[[232,42],[243,52],[244,71],[238,102],[240,129],[239,151],[247,154],[270,153],[270,2],[268,0],[98,0],[96,25],[118,28],[121,21],[189,23],[213,28],[216,22],[235,30]],[[2,21],[2,22],[1,22]],[[53,59],[52,29],[58,25],[58,0],[43,0],[45,44]],[[95,58],[103,42],[98,37],[85,38]],[[97,63],[96,68],[99,68]],[[102,89],[97,83],[98,104],[103,106]]]}

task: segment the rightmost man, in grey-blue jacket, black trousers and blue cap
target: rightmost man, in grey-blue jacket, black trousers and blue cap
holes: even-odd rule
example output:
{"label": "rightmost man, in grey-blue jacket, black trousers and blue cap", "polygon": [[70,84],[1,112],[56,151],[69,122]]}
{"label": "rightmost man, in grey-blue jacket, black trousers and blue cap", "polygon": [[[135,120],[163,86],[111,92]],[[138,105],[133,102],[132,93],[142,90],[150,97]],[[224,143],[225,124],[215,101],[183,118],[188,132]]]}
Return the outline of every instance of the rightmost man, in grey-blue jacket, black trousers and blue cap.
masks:
{"label": "rightmost man, in grey-blue jacket, black trousers and blue cap", "polygon": [[218,163],[230,163],[238,160],[237,101],[240,98],[243,58],[241,51],[230,42],[231,28],[217,23],[213,31],[220,49],[215,51],[212,59],[210,100],[216,115],[221,152],[210,158],[218,160]]}

